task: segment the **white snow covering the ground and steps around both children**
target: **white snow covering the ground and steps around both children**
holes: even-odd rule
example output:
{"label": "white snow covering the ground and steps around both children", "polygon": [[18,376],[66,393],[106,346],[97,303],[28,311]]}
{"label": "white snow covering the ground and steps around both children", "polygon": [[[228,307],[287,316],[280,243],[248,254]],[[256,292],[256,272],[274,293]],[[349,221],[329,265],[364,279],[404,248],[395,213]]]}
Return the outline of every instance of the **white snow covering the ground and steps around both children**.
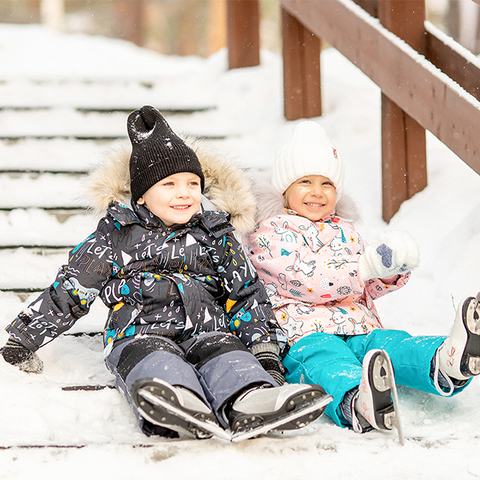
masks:
{"label": "white snow covering the ground and steps around both children", "polygon": [[[98,114],[100,121],[99,116],[79,113],[78,107],[85,105],[99,109],[122,105],[132,110],[143,103],[161,109],[197,107],[202,110],[167,115],[167,119],[179,132],[212,138],[221,152],[242,166],[268,172],[297,123],[283,117],[281,59],[267,51],[262,51],[259,67],[228,70],[225,51],[207,59],[166,57],[121,40],[65,35],[39,26],[0,25],[0,63],[4,105],[19,104],[12,98],[36,106],[55,99],[51,111],[0,110],[2,137],[25,132],[48,136],[55,130],[66,136],[126,135],[126,113]],[[381,219],[380,92],[332,49],[322,54],[322,75],[324,115],[316,121],[346,163],[344,192],[359,207],[359,231],[372,241],[387,228],[407,230],[421,250],[422,262],[410,283],[376,302],[384,326],[414,335],[446,335],[454,305],[480,290],[480,177],[429,134],[429,185],[405,202],[386,225]],[[107,89],[93,88],[97,82]],[[143,88],[146,84],[150,87]],[[0,168],[83,171],[110,145],[72,138],[0,141]],[[65,221],[38,208],[55,196],[78,201],[80,179],[67,183],[55,181],[50,174],[38,176],[35,183],[33,177],[21,182],[15,177],[1,176],[0,201],[25,208],[0,212],[1,245],[68,247],[94,228],[89,216]],[[38,255],[27,248],[0,250],[2,326],[35,294],[19,296],[1,289],[48,285],[66,251]],[[101,330],[105,313],[101,304],[94,304],[72,332]],[[6,339],[2,329],[0,344]],[[133,479],[150,474],[197,480],[480,476],[478,378],[461,395],[447,399],[400,387],[403,447],[394,433],[357,435],[325,416],[296,433],[241,444],[149,439],[140,433],[117,391],[61,390],[67,385],[111,384],[101,350],[98,336],[66,335],[40,350],[45,362],[41,375],[27,375],[0,362],[0,478],[27,479],[32,474],[50,479]],[[35,448],[42,445],[48,448]]]}

